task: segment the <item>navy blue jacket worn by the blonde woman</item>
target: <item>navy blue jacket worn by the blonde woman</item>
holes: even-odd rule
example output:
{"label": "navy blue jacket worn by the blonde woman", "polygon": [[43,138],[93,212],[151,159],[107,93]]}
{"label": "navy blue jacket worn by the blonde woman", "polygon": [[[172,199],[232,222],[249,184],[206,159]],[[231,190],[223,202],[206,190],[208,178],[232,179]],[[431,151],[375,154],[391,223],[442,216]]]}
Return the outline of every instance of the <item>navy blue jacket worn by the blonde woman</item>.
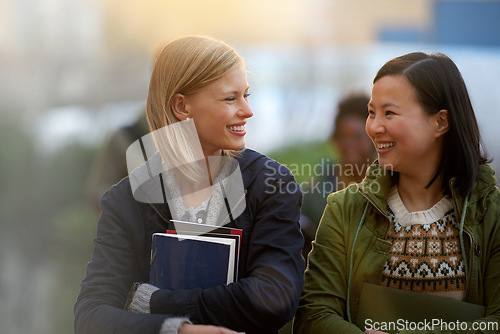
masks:
{"label": "navy blue jacket worn by the blonde woman", "polygon": [[228,226],[243,229],[239,279],[208,289],[158,290],[151,314],[124,311],[135,282],[149,281],[151,237],[165,232],[165,204],[136,201],[128,177],[101,199],[92,259],[75,304],[75,333],[158,334],[169,316],[236,331],[276,333],[295,314],[303,285],[302,193],[290,171],[252,150],[238,158],[246,208]]}

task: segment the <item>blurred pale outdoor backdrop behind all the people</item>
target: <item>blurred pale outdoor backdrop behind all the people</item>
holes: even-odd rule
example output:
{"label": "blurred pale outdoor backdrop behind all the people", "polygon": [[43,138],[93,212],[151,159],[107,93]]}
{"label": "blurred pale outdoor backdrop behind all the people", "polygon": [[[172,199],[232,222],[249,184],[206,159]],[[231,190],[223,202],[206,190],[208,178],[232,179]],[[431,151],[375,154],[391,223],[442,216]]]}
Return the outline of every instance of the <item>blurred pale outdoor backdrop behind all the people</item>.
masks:
{"label": "blurred pale outdoor backdrop behind all the people", "polygon": [[96,161],[142,115],[162,44],[234,46],[250,71],[247,146],[288,164],[308,161],[339,99],[369,94],[386,61],[443,52],[500,170],[499,16],[499,1],[0,0],[0,332],[73,332]]}

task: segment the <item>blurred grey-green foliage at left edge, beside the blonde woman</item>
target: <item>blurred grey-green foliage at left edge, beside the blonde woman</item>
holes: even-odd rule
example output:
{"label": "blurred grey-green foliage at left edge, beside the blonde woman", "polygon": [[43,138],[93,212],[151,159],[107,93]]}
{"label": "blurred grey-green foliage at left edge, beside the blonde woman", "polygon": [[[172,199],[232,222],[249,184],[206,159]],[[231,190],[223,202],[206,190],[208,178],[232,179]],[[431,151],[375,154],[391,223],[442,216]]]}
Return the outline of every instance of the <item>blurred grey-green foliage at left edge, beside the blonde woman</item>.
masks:
{"label": "blurred grey-green foliage at left edge, beside the blonde woman", "polygon": [[[71,333],[98,219],[84,193],[96,148],[70,142],[42,152],[36,140],[18,119],[2,116],[0,291],[11,307],[0,314],[0,332]],[[35,323],[33,313],[48,319]]]}

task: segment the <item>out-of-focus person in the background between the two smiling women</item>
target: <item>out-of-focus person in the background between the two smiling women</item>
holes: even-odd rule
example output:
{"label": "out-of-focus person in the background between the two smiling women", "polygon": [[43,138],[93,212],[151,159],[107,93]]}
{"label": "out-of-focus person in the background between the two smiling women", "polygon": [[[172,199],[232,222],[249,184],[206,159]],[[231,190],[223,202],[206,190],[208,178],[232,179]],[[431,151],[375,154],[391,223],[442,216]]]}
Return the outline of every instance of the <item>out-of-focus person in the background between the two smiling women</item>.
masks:
{"label": "out-of-focus person in the background between the two smiling women", "polygon": [[303,189],[300,223],[304,234],[304,257],[311,250],[327,196],[361,182],[375,159],[375,148],[365,131],[369,101],[370,97],[364,93],[351,93],[338,103],[334,129],[328,139],[338,153],[337,158],[325,156],[317,162],[323,168],[317,169],[320,173],[312,175],[311,182]]}

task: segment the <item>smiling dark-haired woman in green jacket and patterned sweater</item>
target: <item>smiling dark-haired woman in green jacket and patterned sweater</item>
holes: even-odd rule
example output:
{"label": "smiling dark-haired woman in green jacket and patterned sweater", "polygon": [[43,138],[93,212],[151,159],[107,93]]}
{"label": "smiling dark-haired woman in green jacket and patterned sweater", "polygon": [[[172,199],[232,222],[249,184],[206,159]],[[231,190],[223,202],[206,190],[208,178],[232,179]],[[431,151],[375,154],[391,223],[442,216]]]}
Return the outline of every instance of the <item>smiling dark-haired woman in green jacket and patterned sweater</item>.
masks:
{"label": "smiling dark-haired woman in green jacket and patterned sweater", "polygon": [[453,61],[410,53],[387,62],[366,131],[378,160],[361,184],[328,198],[295,332],[363,332],[353,322],[365,282],[484,305],[476,321],[498,325],[500,191]]}

